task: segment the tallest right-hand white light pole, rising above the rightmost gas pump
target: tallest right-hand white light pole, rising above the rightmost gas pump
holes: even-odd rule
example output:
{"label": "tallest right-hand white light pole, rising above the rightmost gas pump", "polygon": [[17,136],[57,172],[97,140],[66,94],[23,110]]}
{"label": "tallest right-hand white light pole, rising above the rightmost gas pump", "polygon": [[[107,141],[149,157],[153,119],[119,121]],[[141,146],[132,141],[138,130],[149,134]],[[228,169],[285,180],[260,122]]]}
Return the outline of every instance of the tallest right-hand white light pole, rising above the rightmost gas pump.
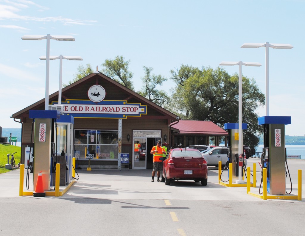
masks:
{"label": "tallest right-hand white light pole, rising above the rightmost gas pump", "polygon": [[276,49],[291,49],[293,48],[290,44],[270,44],[266,43],[244,43],[241,48],[266,48],[266,116],[269,116],[269,48]]}

